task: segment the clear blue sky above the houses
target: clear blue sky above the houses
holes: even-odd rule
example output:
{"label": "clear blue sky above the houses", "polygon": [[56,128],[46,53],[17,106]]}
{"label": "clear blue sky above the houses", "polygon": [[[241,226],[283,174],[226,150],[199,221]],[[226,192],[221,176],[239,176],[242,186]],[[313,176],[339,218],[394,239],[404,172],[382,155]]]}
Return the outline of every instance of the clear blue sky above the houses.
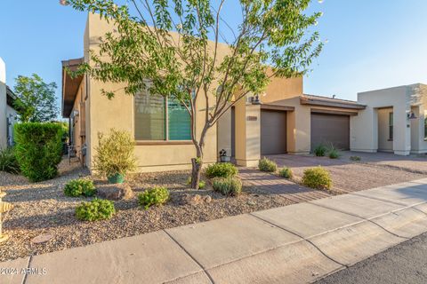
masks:
{"label": "clear blue sky above the houses", "polygon": [[[427,1],[314,0],[310,11],[324,12],[317,28],[328,43],[305,78],[306,93],[356,99],[359,91],[427,83]],[[7,83],[36,73],[58,84],[60,98],[60,61],[83,55],[85,20],[58,0],[2,0]]]}

